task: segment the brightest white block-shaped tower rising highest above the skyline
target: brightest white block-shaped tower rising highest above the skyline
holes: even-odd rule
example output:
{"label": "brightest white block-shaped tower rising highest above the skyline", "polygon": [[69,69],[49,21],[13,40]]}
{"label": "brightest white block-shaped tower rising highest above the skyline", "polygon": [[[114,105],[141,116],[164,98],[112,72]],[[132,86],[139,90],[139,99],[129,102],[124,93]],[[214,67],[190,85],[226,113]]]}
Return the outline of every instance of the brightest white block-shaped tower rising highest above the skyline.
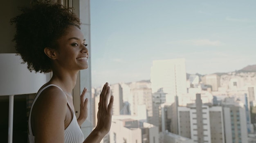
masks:
{"label": "brightest white block-shaped tower rising highest above the skyline", "polygon": [[166,102],[173,103],[174,97],[187,93],[185,59],[153,61],[151,67],[152,92],[163,88],[167,93]]}

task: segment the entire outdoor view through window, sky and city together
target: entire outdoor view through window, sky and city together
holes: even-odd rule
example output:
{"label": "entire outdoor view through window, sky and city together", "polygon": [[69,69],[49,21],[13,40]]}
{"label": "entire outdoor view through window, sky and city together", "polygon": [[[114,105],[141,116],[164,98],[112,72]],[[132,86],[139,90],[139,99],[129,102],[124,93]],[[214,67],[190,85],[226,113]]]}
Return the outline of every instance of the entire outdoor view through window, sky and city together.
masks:
{"label": "entire outdoor view through window, sky and city together", "polygon": [[91,1],[92,120],[101,84],[115,99],[102,143],[256,143],[255,2]]}

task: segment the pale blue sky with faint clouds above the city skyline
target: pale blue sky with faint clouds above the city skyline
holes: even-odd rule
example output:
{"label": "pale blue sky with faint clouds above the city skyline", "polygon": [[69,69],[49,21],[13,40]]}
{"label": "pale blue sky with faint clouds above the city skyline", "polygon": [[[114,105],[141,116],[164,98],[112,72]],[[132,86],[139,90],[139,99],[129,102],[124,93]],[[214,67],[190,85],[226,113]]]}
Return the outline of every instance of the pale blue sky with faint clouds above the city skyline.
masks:
{"label": "pale blue sky with faint clouds above the city skyline", "polygon": [[153,60],[189,74],[256,64],[256,0],[91,0],[92,86],[150,79]]}

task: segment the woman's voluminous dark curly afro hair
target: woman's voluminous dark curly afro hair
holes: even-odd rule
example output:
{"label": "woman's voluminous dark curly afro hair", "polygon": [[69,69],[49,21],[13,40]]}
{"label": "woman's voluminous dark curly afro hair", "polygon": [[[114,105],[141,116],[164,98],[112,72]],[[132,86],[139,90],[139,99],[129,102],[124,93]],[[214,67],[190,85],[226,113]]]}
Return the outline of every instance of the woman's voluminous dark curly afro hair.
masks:
{"label": "woman's voluminous dark curly afro hair", "polygon": [[30,72],[51,72],[51,59],[44,49],[57,49],[57,39],[70,25],[80,29],[80,20],[72,13],[72,8],[49,1],[34,2],[31,7],[20,10],[22,14],[10,21],[16,23],[15,48]]}

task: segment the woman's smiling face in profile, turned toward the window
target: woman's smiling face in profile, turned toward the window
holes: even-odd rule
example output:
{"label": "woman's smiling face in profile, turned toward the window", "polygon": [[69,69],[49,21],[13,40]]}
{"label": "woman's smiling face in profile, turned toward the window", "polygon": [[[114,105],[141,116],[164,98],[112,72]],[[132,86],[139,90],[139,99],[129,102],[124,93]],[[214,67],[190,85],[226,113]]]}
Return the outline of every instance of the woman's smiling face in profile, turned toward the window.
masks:
{"label": "woman's smiling face in profile, turned toward the window", "polygon": [[66,29],[65,35],[57,40],[58,50],[54,65],[66,70],[80,70],[88,68],[88,49],[83,33],[76,26]]}

